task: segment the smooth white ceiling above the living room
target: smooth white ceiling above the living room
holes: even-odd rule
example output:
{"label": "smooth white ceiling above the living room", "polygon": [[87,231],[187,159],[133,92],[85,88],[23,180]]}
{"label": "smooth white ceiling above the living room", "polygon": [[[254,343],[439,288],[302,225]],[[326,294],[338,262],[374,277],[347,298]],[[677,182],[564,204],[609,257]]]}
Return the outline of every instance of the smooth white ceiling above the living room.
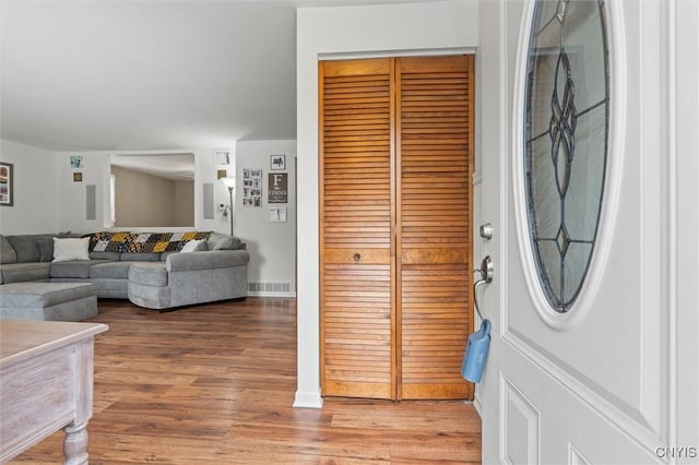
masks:
{"label": "smooth white ceiling above the living room", "polygon": [[420,0],[0,1],[0,138],[156,151],[296,139],[296,8]]}

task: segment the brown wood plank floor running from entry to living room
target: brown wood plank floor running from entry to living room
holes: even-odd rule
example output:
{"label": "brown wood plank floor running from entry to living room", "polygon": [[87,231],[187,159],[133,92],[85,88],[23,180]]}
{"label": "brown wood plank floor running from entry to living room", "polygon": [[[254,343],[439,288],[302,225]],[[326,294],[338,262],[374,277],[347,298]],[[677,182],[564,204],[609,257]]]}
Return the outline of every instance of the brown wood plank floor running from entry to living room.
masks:
{"label": "brown wood plank floor running from entry to living room", "polygon": [[[248,298],[161,313],[99,302],[95,464],[479,463],[463,402],[325,398],[293,408],[296,301]],[[11,463],[61,463],[62,432]]]}

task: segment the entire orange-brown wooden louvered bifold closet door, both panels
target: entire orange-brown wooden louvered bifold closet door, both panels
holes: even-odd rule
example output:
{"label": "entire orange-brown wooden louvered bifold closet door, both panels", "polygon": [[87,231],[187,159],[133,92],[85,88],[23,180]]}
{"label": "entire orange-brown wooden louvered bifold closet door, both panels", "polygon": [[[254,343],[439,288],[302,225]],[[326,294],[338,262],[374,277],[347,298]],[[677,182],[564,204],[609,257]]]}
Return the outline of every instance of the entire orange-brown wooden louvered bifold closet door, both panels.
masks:
{"label": "entire orange-brown wooden louvered bifold closet door, both panels", "polygon": [[320,63],[323,395],[473,395],[472,62]]}

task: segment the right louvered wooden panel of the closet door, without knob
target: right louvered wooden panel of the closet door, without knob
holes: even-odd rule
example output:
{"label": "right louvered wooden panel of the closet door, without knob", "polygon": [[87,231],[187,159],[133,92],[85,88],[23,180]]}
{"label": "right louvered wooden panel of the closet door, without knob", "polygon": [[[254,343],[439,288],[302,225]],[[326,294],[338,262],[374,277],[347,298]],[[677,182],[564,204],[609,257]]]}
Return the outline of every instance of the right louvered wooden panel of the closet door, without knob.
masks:
{"label": "right louvered wooden panel of the closet door, without knob", "polygon": [[402,398],[470,398],[471,57],[396,65]]}

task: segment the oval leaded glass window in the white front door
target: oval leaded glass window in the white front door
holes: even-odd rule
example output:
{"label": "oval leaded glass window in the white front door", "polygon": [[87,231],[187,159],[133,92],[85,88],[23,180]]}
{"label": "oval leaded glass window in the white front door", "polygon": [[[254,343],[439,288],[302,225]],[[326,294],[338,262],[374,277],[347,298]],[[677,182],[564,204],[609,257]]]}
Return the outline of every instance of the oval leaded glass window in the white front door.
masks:
{"label": "oval leaded glass window in the white front door", "polygon": [[570,310],[595,246],[609,118],[604,1],[537,0],[529,43],[524,176],[546,299]]}

